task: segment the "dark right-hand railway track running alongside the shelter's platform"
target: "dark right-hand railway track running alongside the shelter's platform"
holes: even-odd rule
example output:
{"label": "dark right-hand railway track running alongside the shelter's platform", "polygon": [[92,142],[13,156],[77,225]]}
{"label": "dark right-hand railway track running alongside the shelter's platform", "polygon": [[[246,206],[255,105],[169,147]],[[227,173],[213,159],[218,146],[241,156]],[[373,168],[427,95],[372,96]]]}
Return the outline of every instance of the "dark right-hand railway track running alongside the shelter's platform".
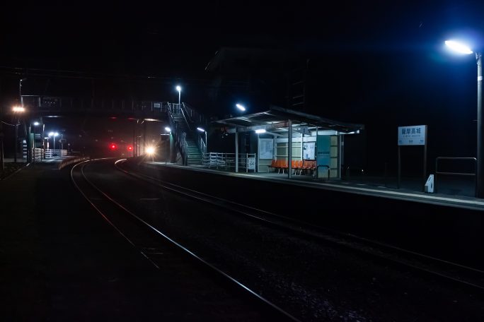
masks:
{"label": "dark right-hand railway track running alongside the shelter's platform", "polygon": [[353,234],[338,232],[333,229],[325,229],[323,227],[316,227],[306,222],[300,222],[283,215],[271,213],[267,210],[260,210],[248,205],[234,203],[233,201],[218,198],[217,196],[211,196],[201,191],[186,189],[183,186],[178,186],[171,182],[151,177],[148,174],[127,169],[127,167],[124,166],[124,162],[125,160],[118,160],[115,163],[117,169],[120,169],[120,171],[133,177],[137,177],[138,179],[155,184],[162,189],[178,193],[202,203],[216,205],[231,213],[241,215],[250,220],[256,220],[264,225],[283,229],[286,232],[296,234],[304,239],[324,244],[329,243],[338,248],[369,256],[373,261],[391,264],[398,268],[407,268],[414,273],[438,278],[439,280],[450,282],[453,285],[466,288],[472,292],[484,294],[484,272],[482,270],[426,256],[425,254],[419,254],[414,251],[401,249],[379,241],[364,239]]}

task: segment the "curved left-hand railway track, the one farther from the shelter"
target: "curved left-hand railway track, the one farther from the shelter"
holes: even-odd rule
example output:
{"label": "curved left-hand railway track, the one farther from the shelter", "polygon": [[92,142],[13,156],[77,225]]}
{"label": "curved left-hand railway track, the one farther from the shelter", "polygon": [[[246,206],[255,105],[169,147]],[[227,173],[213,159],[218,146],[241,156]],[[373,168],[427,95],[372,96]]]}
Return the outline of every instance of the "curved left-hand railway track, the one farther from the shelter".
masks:
{"label": "curved left-hand railway track, the one farther from the shelter", "polygon": [[[88,179],[85,167],[89,162],[96,160],[84,161],[78,163],[71,169],[71,180],[76,189],[90,203],[104,219],[119,232],[126,241],[139,251],[148,261],[156,268],[162,266],[185,265],[185,260],[190,263],[188,270],[193,267],[199,268],[202,272],[213,278],[217,285],[224,285],[230,294],[236,294],[236,298],[241,297],[244,303],[249,303],[250,307],[263,316],[264,321],[299,321],[296,317],[287,313],[279,306],[260,296],[257,292],[250,290],[242,282],[231,277],[231,275],[220,270],[216,266],[206,261],[204,258],[197,256],[190,249],[179,244],[171,237],[168,237],[160,229],[150,225],[142,217],[125,208],[121,203],[100,189],[96,184]],[[209,293],[210,291],[207,291]],[[217,295],[214,295],[217,298]],[[226,302],[226,299],[224,299]],[[224,304],[221,304],[224,305]],[[225,304],[229,309],[233,309],[234,303]],[[242,309],[243,311],[243,309]],[[253,314],[248,314],[248,320],[253,319]],[[238,316],[240,318],[240,316]],[[241,317],[244,319],[244,317]]]}

